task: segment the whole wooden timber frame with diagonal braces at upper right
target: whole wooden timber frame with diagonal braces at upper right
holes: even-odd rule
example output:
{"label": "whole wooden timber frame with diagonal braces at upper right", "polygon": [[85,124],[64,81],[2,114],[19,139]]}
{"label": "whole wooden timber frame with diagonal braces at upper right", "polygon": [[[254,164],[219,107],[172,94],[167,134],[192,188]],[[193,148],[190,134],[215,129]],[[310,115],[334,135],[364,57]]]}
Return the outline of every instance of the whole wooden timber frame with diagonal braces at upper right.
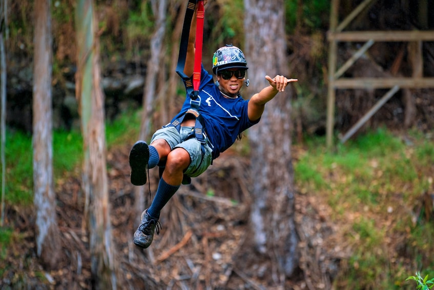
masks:
{"label": "whole wooden timber frame with diagonal braces at upper right", "polygon": [[[434,88],[434,78],[423,77],[423,55],[422,42],[434,41],[434,31],[345,31],[343,29],[354,20],[369,5],[377,0],[365,0],[353,10],[344,20],[338,24],[339,0],[332,0],[330,10],[330,29],[327,33],[329,41],[328,51],[328,92],[327,92],[327,121],[326,121],[326,145],[330,148],[333,145],[333,127],[335,114],[336,89],[384,89],[390,90],[383,95],[377,104],[345,134],[340,136],[341,142],[345,142],[354,134],[369,118],[389,100],[401,88]],[[339,42],[365,42],[337,70],[338,43]],[[411,49],[412,59],[411,78],[394,77],[390,78],[341,78],[344,72],[352,66],[375,42],[408,42],[414,49]]]}

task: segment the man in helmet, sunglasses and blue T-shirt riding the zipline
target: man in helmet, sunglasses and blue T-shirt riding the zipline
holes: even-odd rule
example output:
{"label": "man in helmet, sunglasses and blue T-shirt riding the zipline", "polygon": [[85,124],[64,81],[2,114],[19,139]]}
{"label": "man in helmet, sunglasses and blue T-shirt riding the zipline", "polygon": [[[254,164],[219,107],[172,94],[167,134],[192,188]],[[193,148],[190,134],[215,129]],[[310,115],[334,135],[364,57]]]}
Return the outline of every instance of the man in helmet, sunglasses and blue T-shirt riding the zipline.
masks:
{"label": "man in helmet, sunglasses and blue T-shirt riding the zipline", "polygon": [[[197,6],[203,9],[200,1]],[[188,35],[181,76],[192,76],[195,72],[196,17],[191,21]],[[181,46],[182,42],[181,39]],[[196,45],[201,50],[201,43]],[[283,75],[274,78],[265,75],[270,85],[255,93],[250,100],[243,100],[240,90],[244,83],[249,85],[247,69],[244,54],[238,47],[226,45],[217,49],[213,55],[213,73],[217,82],[214,83],[213,75],[200,65],[200,72],[196,72],[200,75],[197,95],[192,98],[193,95],[188,93],[180,112],[171,123],[153,134],[150,145],[137,141],[132,147],[129,158],[134,185],[147,182],[147,169],[158,165],[163,170],[152,204],[142,212],[140,225],[134,233],[137,246],[149,247],[155,229],[159,234],[160,211],[180,185],[188,184],[190,178],[203,173],[220,152],[240,137],[241,132],[259,122],[268,101],[282,92],[288,83],[297,81]]]}

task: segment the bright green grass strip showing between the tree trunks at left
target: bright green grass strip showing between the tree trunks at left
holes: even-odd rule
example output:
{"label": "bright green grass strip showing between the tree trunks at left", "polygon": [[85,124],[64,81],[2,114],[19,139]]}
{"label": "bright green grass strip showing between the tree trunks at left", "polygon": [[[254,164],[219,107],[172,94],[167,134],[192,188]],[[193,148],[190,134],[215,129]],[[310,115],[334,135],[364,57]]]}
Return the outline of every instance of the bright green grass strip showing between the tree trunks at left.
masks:
{"label": "bright green grass strip showing between the tree trunks at left", "polygon": [[[128,112],[106,126],[107,146],[132,142],[138,136],[140,112]],[[83,140],[79,131],[53,132],[54,178],[81,166]],[[33,203],[33,149],[29,134],[8,130],[6,134],[6,195],[9,205]],[[1,184],[1,181],[0,181]]]}

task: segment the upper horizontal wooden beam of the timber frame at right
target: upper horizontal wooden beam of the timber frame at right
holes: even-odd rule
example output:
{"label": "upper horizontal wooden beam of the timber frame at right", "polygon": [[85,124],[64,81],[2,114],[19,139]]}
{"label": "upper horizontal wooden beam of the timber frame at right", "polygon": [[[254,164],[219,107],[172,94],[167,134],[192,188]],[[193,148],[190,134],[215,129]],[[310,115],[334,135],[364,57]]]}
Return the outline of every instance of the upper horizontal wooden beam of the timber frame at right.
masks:
{"label": "upper horizontal wooden beam of the timber frame at right", "polygon": [[349,31],[327,32],[328,41],[339,42],[404,42],[404,41],[434,41],[434,30],[386,30],[386,31]]}

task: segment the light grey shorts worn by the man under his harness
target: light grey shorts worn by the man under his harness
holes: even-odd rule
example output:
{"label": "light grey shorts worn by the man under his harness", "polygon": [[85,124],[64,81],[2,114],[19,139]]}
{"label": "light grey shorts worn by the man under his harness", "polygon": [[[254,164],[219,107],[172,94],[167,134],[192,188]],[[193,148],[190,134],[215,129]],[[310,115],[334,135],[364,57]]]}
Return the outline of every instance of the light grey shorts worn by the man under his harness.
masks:
{"label": "light grey shorts worn by the man under his harness", "polygon": [[211,143],[205,136],[206,144],[204,146],[204,155],[202,157],[202,144],[196,138],[189,138],[194,127],[180,127],[178,130],[175,127],[162,127],[158,129],[152,136],[151,144],[154,140],[164,139],[169,144],[170,149],[184,148],[190,154],[191,163],[184,175],[188,177],[197,177],[201,175],[213,161]]}

